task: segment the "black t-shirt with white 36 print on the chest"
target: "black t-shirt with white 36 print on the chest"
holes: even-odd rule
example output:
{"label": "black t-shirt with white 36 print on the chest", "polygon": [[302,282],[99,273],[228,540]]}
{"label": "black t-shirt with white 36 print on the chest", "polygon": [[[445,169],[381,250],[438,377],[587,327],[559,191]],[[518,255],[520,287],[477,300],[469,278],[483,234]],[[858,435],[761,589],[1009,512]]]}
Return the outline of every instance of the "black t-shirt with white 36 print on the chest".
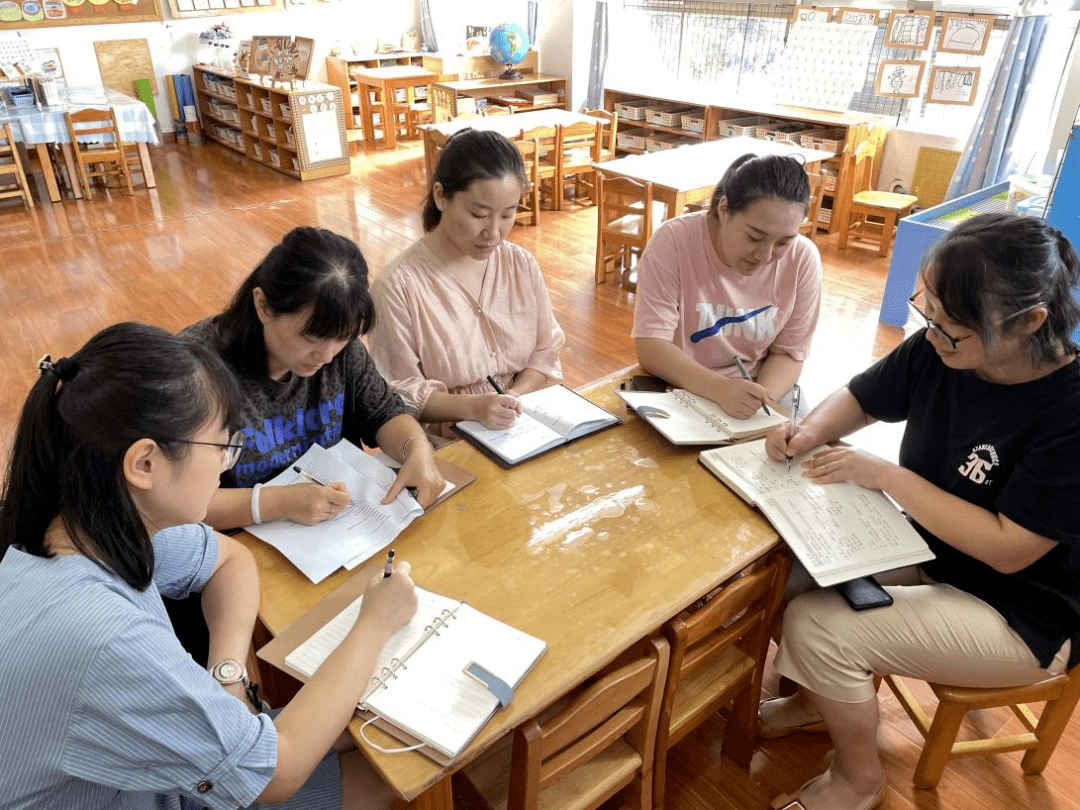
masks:
{"label": "black t-shirt with white 36 print on the chest", "polygon": [[863,410],[907,420],[900,463],[950,495],[1000,513],[1057,545],[1001,573],[917,523],[936,554],[926,572],[994,607],[1042,666],[1066,638],[1080,660],[1080,364],[1030,382],[987,382],[942,363],[910,336],[849,383]]}

